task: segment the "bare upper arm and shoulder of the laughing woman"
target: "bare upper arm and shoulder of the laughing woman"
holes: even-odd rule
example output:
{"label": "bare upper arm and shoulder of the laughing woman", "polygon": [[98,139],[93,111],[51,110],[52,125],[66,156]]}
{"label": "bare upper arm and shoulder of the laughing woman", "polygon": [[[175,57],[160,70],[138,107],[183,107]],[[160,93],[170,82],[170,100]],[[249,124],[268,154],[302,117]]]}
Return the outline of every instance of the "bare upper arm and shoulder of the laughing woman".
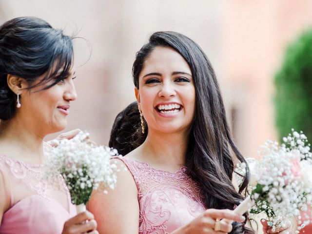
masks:
{"label": "bare upper arm and shoulder of the laughing woman", "polygon": [[100,234],[137,234],[139,204],[136,183],[122,160],[113,158],[111,163],[118,169],[116,186],[113,190],[107,189],[107,194],[93,191],[88,210],[94,214]]}

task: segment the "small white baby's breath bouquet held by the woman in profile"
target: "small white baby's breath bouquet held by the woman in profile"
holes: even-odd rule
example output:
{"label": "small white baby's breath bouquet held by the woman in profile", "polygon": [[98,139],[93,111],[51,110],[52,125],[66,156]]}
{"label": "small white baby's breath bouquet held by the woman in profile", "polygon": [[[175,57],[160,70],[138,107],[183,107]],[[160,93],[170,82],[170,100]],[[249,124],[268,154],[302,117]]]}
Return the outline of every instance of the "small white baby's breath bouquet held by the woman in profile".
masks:
{"label": "small white baby's breath bouquet held by the woman in profile", "polygon": [[92,190],[107,193],[117,180],[117,166],[110,161],[117,150],[90,143],[88,135],[80,132],[70,140],[53,140],[55,147],[48,150],[45,162],[44,177],[52,183],[58,183],[58,175],[63,177],[78,213],[85,210]]}

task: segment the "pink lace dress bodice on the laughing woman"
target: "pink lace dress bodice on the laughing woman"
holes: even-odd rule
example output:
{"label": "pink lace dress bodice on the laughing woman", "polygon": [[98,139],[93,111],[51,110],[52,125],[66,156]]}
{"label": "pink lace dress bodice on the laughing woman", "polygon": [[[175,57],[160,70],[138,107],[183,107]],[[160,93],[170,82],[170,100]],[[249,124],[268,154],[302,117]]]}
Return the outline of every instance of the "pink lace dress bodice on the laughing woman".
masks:
{"label": "pink lace dress bodice on the laughing woman", "polygon": [[116,158],[128,167],[137,185],[139,234],[169,234],[206,210],[186,167],[171,173],[131,158]]}

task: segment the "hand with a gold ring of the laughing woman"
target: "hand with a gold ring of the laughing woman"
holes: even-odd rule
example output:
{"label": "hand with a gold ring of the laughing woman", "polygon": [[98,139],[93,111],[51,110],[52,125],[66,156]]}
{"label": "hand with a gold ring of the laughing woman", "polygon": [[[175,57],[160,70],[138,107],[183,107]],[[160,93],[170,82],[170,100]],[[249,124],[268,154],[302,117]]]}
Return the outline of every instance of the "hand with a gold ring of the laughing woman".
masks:
{"label": "hand with a gold ring of the laughing woman", "polygon": [[202,215],[195,218],[192,222],[183,226],[171,234],[224,234],[232,231],[232,224],[220,222],[219,231],[215,230],[217,219],[229,219],[237,222],[245,221],[245,217],[237,215],[231,210],[208,209]]}

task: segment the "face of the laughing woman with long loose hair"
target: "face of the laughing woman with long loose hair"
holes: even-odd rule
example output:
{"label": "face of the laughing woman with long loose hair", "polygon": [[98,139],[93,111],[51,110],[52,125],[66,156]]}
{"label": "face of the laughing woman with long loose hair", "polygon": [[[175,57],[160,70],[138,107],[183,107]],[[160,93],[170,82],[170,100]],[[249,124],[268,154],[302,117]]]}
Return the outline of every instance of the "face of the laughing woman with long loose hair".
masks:
{"label": "face of the laughing woman with long loose hair", "polygon": [[140,89],[135,90],[149,131],[188,133],[195,110],[195,86],[188,63],[174,49],[158,46],[145,64]]}

